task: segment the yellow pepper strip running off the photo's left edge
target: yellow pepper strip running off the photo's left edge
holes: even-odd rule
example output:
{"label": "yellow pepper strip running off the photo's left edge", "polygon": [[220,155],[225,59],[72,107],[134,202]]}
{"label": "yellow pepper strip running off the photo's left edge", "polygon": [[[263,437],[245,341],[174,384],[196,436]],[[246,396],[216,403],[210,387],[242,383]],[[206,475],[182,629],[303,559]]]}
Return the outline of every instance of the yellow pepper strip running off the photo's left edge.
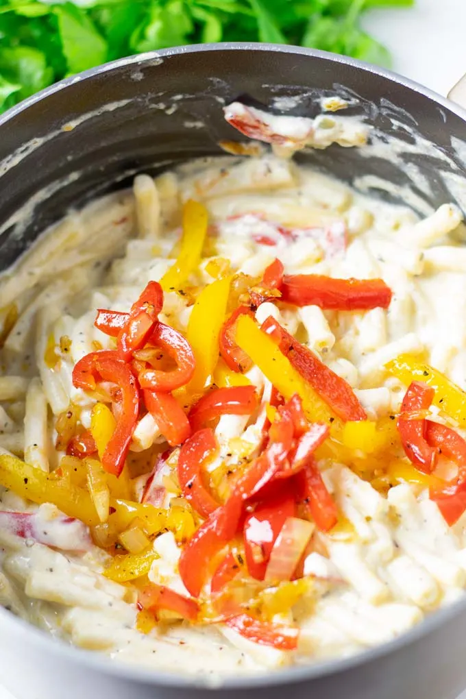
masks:
{"label": "yellow pepper strip running off the photo's left edge", "polygon": [[80,519],[89,526],[100,523],[87,491],[76,487],[68,479],[52,478],[15,456],[0,455],[0,484],[38,505],[52,503],[68,517]]}

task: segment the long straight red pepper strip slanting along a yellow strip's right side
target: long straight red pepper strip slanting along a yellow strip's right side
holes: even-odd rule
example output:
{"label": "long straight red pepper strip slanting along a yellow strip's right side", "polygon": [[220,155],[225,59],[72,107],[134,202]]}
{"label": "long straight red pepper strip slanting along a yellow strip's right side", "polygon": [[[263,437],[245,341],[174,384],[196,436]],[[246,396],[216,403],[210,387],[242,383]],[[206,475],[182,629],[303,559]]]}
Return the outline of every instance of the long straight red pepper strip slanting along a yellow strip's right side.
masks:
{"label": "long straight red pepper strip slanting along a yellow strip's right side", "polygon": [[275,340],[291,365],[339,417],[343,420],[367,419],[365,410],[349,383],[328,368],[314,352],[298,343],[275,318],[269,316],[263,322],[261,330]]}

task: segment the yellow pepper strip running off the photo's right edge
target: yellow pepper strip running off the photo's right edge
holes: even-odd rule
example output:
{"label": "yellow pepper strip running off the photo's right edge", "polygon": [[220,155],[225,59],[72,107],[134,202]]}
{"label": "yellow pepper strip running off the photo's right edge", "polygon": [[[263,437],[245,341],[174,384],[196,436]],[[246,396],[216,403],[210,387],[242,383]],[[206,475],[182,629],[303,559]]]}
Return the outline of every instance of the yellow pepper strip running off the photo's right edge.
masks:
{"label": "yellow pepper strip running off the photo's right edge", "polygon": [[460,426],[466,426],[466,392],[444,374],[414,354],[400,354],[396,359],[389,361],[385,368],[407,386],[412,381],[428,384],[435,390],[432,404],[458,420]]}

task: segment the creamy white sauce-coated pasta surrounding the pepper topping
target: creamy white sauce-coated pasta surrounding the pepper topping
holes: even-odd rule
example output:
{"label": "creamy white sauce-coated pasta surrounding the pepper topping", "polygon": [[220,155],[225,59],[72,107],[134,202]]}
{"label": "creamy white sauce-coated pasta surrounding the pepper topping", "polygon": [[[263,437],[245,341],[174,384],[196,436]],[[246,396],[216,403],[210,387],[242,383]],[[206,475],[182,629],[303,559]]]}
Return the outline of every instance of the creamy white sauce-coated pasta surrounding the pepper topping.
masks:
{"label": "creamy white sauce-coated pasta surrounding the pepper topping", "polygon": [[[337,120],[333,129],[329,119]],[[296,138],[299,147],[303,140],[314,147],[365,140],[365,129],[344,117],[322,117],[312,137],[305,123],[311,120],[280,120],[268,117],[268,125],[291,138],[291,150]],[[282,155],[283,147],[278,150]],[[156,180],[138,175],[133,191],[72,212],[0,278],[0,319],[12,325],[2,350],[0,454],[53,470],[62,455],[52,448],[57,416],[70,402],[78,404],[89,427],[96,398],[75,389],[71,373],[88,352],[112,347],[111,338],[94,327],[96,310],[128,311],[147,282],[167,271],[180,237],[182,203],[191,197],[209,212],[214,248],[193,285],[212,282],[212,259],[227,259],[233,271],[256,276],[278,257],[287,274],[382,278],[391,287],[388,311],[280,310],[270,302],[256,311],[259,322],[274,315],[298,333],[349,382],[370,419],[399,411],[405,389],[384,365],[404,352],[424,352],[428,363],[466,389],[466,253],[450,235],[462,221],[455,206],[445,203],[419,221],[408,208],[358,194],[277,154],[196,161]],[[170,291],[161,320],[183,332],[191,310],[185,296]],[[53,368],[44,359],[50,337],[60,360]],[[258,368],[250,378],[265,405],[270,384]],[[431,417],[442,421],[433,409]],[[260,421],[221,418],[220,463],[233,463],[229,445],[238,437],[254,452]],[[161,442],[147,415],[133,435],[131,454]],[[305,575],[315,577],[312,599],[301,600],[282,619],[300,627],[297,651],[255,644],[223,625],[161,624],[140,633],[131,588],[101,575],[108,555],[89,544],[81,529],[84,551],[70,550],[78,534],[70,543],[54,531],[58,513],[52,505],[37,508],[4,489],[0,509],[38,510],[34,526],[43,534],[22,538],[0,515],[0,603],[52,635],[117,661],[216,676],[353,654],[402,634],[463,593],[464,518],[449,528],[419,485],[400,483],[385,494],[342,463],[324,460],[319,468],[346,524],[319,533],[319,547],[304,565]],[[156,538],[154,549],[159,558],[149,578],[186,593],[173,534]]]}

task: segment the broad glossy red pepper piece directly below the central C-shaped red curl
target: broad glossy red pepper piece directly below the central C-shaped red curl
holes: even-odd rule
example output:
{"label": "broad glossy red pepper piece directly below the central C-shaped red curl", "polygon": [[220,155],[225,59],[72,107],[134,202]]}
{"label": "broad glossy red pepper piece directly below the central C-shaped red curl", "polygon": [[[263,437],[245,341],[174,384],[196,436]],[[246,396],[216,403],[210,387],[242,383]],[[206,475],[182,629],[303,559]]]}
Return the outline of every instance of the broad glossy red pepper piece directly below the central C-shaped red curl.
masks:
{"label": "broad glossy red pepper piece directly below the central C-shaped red curl", "polygon": [[225,542],[217,534],[218,510],[196,529],[181,552],[178,570],[189,594],[198,597],[209,575],[210,562]]}

